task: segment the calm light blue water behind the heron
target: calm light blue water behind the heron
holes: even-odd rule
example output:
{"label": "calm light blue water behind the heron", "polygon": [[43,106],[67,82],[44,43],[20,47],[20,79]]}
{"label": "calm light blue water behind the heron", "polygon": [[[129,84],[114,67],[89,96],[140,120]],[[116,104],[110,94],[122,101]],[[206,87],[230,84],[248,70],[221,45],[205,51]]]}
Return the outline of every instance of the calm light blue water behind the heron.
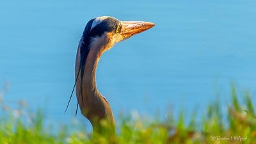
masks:
{"label": "calm light blue water behind the heron", "polygon": [[[103,54],[97,87],[115,116],[188,112],[228,103],[230,81],[256,94],[255,1],[0,1],[0,84],[6,104],[28,102],[70,123],[77,44],[88,20],[111,15],[156,26]],[[78,118],[82,116],[79,114]]]}

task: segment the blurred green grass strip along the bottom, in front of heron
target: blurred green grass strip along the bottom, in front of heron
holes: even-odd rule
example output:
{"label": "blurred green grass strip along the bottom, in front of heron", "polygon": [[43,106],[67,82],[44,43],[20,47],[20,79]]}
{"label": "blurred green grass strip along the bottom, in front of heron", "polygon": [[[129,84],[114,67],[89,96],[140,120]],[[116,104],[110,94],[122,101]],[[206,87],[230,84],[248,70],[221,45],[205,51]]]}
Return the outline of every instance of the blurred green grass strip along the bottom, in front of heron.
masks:
{"label": "blurred green grass strip along the bottom, in front of heron", "polygon": [[206,115],[201,116],[199,122],[195,115],[189,118],[189,123],[185,122],[183,113],[177,119],[170,115],[165,120],[120,116],[117,118],[118,132],[111,138],[106,134],[82,131],[79,125],[72,126],[76,131],[71,131],[67,125],[58,125],[59,131],[54,132],[51,125],[44,127],[41,111],[28,113],[22,103],[18,109],[8,108],[0,95],[4,109],[0,119],[0,143],[256,143],[256,117],[251,95],[245,93],[244,100],[239,102],[234,86],[231,93],[232,100],[224,107],[226,115],[216,100],[209,104]]}

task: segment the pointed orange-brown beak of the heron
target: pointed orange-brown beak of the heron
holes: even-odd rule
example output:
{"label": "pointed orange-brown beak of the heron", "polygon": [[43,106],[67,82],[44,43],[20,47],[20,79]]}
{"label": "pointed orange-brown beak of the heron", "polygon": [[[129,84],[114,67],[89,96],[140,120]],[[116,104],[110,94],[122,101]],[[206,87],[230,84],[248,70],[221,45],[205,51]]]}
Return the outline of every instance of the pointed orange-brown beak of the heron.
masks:
{"label": "pointed orange-brown beak of the heron", "polygon": [[123,36],[124,39],[131,37],[132,35],[136,35],[147,29],[155,26],[152,22],[140,22],[140,21],[122,21],[122,29],[120,35]]}

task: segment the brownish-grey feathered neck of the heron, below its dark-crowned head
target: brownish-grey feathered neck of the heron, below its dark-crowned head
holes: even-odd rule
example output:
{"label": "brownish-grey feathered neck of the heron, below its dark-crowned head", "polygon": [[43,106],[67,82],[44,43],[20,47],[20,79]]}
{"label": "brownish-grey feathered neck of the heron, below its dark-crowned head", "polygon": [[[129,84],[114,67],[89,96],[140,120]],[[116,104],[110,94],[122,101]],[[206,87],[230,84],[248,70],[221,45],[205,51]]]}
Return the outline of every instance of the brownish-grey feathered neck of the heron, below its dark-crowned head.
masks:
{"label": "brownish-grey feathered neck of the heron, below its dark-crowned head", "polygon": [[[83,113],[88,120],[95,127],[99,127],[100,120],[105,119],[115,127],[113,113],[108,101],[99,93],[96,84],[96,70],[97,64],[102,53],[111,47],[108,36],[102,35],[93,38],[90,51],[88,52],[84,69],[81,70],[83,77],[78,76],[76,84],[76,95],[81,113]],[[81,47],[77,50],[76,61],[76,76],[79,73],[79,67],[81,65]],[[79,74],[79,75],[81,75]],[[80,84],[83,83],[81,86]],[[95,126],[98,125],[98,126]]]}

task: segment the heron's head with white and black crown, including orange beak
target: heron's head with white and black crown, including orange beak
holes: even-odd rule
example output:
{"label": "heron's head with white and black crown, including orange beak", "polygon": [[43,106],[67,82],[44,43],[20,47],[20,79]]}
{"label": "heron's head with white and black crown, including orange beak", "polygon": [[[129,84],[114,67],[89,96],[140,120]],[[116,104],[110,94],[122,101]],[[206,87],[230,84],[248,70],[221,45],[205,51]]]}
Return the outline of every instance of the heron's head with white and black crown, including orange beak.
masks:
{"label": "heron's head with white and black crown, including orange beak", "polygon": [[[89,25],[89,26],[88,26]],[[103,49],[107,51],[114,44],[126,40],[133,35],[152,28],[155,24],[143,21],[120,21],[114,17],[97,17],[87,24],[85,35],[90,36],[91,45],[106,45]]]}

